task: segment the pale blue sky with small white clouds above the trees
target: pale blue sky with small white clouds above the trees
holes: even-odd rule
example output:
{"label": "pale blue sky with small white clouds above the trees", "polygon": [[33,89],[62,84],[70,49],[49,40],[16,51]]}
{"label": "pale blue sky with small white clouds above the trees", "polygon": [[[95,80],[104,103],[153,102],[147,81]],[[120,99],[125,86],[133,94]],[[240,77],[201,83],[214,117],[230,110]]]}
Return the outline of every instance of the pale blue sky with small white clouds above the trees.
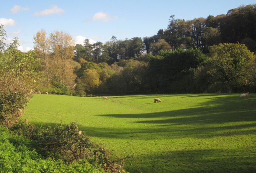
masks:
{"label": "pale blue sky with small white clouds above the trees", "polygon": [[33,49],[34,35],[44,29],[48,35],[63,31],[75,43],[83,44],[133,37],[150,37],[166,29],[171,15],[193,20],[227,14],[255,0],[0,0],[0,24],[7,34],[6,43],[14,37],[19,50]]}

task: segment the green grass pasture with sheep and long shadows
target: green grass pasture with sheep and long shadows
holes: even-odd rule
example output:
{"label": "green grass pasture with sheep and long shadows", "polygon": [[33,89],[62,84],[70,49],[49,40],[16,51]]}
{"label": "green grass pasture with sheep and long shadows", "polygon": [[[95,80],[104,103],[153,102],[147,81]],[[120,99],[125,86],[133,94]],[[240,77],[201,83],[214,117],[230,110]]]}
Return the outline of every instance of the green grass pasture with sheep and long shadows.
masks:
{"label": "green grass pasture with sheep and long shadows", "polygon": [[[154,103],[159,97],[162,102]],[[75,97],[35,94],[23,118],[78,122],[131,173],[256,172],[256,94]]]}

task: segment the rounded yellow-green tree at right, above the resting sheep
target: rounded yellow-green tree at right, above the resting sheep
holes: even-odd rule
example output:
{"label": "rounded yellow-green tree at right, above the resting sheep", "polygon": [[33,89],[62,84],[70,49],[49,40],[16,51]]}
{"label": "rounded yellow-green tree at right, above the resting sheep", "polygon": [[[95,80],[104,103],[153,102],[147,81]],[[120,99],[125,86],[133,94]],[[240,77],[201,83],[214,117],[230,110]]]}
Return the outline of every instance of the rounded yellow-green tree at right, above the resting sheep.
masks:
{"label": "rounded yellow-green tree at right, above the resting sheep", "polygon": [[212,80],[225,84],[228,92],[241,88],[251,78],[255,55],[240,43],[220,43],[210,47]]}

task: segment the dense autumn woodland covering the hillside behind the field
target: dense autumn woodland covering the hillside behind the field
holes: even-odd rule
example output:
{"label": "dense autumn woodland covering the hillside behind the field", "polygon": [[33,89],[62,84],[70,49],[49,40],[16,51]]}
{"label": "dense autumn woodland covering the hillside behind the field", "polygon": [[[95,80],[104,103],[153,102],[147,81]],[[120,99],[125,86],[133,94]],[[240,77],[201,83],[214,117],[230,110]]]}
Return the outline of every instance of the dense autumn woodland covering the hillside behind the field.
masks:
{"label": "dense autumn woodland covering the hillside behind the field", "polygon": [[34,35],[41,92],[101,94],[255,92],[256,4],[185,21],[150,37],[74,45],[62,31]]}

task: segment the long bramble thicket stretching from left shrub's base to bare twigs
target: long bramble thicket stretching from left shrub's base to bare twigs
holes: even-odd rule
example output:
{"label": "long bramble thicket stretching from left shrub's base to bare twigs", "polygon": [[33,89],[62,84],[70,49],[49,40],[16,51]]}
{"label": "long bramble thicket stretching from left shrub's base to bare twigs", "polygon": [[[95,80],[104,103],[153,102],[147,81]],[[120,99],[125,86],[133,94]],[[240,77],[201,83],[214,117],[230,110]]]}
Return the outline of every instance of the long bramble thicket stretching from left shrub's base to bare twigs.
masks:
{"label": "long bramble thicket stretching from left shrub's base to bare twigs", "polygon": [[112,155],[108,150],[92,142],[88,136],[78,130],[77,123],[36,128],[33,124],[20,121],[12,127],[12,133],[21,139],[9,140],[15,146],[26,145],[34,149],[42,158],[61,160],[62,164],[88,163],[106,172],[125,173],[124,159]]}

